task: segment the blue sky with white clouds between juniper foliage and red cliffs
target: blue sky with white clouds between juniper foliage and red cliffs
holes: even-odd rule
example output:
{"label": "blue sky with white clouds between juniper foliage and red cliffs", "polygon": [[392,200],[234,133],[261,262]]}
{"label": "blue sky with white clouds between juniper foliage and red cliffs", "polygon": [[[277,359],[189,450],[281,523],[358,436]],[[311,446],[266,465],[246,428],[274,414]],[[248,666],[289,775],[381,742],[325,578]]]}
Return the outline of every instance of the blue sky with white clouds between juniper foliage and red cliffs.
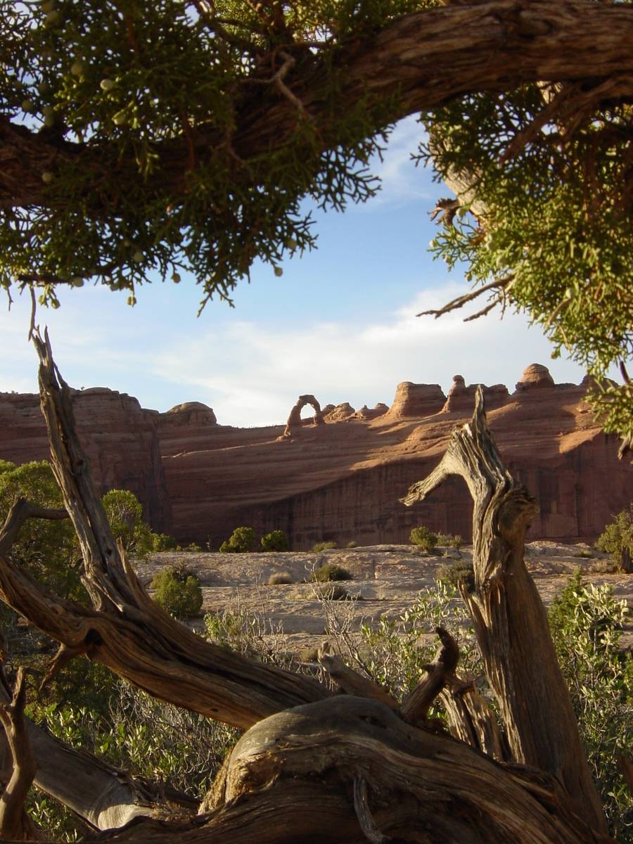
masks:
{"label": "blue sky with white clouds between juniper foliage and red cliffs", "polygon": [[[542,363],[555,381],[582,380],[527,317],[493,311],[474,322],[463,313],[415,317],[468,291],[463,273],[433,261],[435,225],[427,212],[446,187],[410,160],[422,129],[409,117],[392,133],[374,168],[382,189],[344,214],[316,210],[318,248],[273,268],[257,264],[235,307],[209,303],[192,279],[127,293],[86,284],[60,295],[57,311],[40,308],[53,354],[72,387],[110,387],[165,411],[198,401],[221,425],[279,425],[297,397],[354,408],[391,404],[400,381],[505,383],[512,391],[525,367]],[[307,207],[307,206],[306,206]],[[10,311],[0,298],[0,391],[36,392],[36,354],[27,342],[30,298]]]}

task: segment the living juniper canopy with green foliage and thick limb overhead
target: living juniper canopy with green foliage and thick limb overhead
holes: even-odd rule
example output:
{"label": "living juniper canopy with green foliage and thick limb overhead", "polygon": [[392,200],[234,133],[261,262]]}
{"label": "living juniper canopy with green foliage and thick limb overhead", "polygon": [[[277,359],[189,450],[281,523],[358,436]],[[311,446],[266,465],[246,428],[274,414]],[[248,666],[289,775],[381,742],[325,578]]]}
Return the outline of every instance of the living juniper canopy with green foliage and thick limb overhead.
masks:
{"label": "living juniper canopy with green foliage and thick limb overhead", "polygon": [[371,155],[423,111],[419,154],[458,194],[436,251],[587,366],[633,436],[630,3],[0,5],[3,287],[57,306],[94,279],[133,305],[186,272],[229,298],[256,258],[281,273],[314,246],[303,197],[370,198]]}

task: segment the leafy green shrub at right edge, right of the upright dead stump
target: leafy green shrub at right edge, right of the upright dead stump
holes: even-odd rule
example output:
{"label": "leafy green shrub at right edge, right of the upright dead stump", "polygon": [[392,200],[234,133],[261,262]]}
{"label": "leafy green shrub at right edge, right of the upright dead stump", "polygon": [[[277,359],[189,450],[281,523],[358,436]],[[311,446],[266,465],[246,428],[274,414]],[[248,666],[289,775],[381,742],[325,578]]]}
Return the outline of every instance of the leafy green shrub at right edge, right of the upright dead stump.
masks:
{"label": "leafy green shrub at right edge, right of the upright dead stump", "polygon": [[560,668],[611,834],[633,842],[633,813],[618,757],[633,747],[633,657],[619,650],[631,611],[610,587],[571,578],[549,608]]}

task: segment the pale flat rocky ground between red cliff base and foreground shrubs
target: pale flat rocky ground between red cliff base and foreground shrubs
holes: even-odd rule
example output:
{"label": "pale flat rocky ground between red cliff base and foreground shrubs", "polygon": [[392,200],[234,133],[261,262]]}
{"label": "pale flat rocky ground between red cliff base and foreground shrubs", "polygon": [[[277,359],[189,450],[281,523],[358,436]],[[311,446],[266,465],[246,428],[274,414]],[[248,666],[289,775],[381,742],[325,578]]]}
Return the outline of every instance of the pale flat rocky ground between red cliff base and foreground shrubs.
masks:
{"label": "pale flat rocky ground between red cliff base and foreground shrubs", "polygon": [[[460,553],[464,562],[471,561],[471,548]],[[381,616],[398,616],[414,603],[421,590],[433,588],[441,566],[459,559],[453,549],[446,549],[445,554],[440,549],[437,555],[423,555],[411,545],[373,545],[320,553],[164,552],[139,563],[137,569],[149,585],[156,571],[185,562],[203,587],[203,612],[242,609],[258,614],[260,619],[266,619],[268,635],[275,636],[278,646],[280,643],[296,653],[327,638],[327,606],[319,600],[311,583],[306,582],[317,566],[334,562],[353,576],[341,585],[356,600],[335,602],[333,609],[344,616],[351,630],[357,630],[363,621],[376,623]],[[526,546],[525,559],[546,605],[578,569],[587,581],[597,586],[608,584],[616,597],[633,604],[633,575],[596,571],[609,559],[608,555],[587,545],[532,542]],[[268,586],[270,576],[282,572],[289,574],[293,582]],[[199,619],[194,621],[194,626],[198,625],[202,625]],[[633,647],[633,626],[625,630],[622,646]]]}

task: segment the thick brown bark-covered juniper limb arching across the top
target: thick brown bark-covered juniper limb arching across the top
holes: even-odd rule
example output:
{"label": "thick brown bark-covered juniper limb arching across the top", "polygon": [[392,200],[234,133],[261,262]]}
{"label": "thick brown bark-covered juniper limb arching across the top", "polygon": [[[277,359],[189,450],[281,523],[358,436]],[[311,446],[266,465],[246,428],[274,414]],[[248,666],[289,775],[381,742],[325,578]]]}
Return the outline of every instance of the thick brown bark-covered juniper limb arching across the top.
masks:
{"label": "thick brown bark-covered juniper limb arching across the top", "polygon": [[[439,106],[474,91],[503,91],[548,79],[612,79],[609,97],[633,95],[633,9],[624,3],[589,0],[491,0],[425,9],[394,21],[376,35],[337,48],[341,68],[339,111],[327,101],[327,62],[311,57],[297,62],[285,84],[298,97],[322,138],[323,149],[344,139],[333,130],[334,117],[365,95],[387,101],[397,96],[391,120]],[[242,160],[254,160],[287,141],[296,129],[297,108],[279,92],[244,95],[235,104],[232,145]],[[376,127],[378,128],[378,127]],[[213,126],[196,127],[196,137],[155,145],[157,192],[179,194],[186,186],[190,145],[206,164],[209,148],[225,143]],[[213,154],[213,153],[212,153]],[[46,137],[0,117],[0,208],[54,202],[45,195],[41,172],[73,162],[94,170],[95,181],[109,166],[112,151]],[[125,178],[136,173],[132,159],[117,159]],[[95,208],[96,197],[91,197]]]}

